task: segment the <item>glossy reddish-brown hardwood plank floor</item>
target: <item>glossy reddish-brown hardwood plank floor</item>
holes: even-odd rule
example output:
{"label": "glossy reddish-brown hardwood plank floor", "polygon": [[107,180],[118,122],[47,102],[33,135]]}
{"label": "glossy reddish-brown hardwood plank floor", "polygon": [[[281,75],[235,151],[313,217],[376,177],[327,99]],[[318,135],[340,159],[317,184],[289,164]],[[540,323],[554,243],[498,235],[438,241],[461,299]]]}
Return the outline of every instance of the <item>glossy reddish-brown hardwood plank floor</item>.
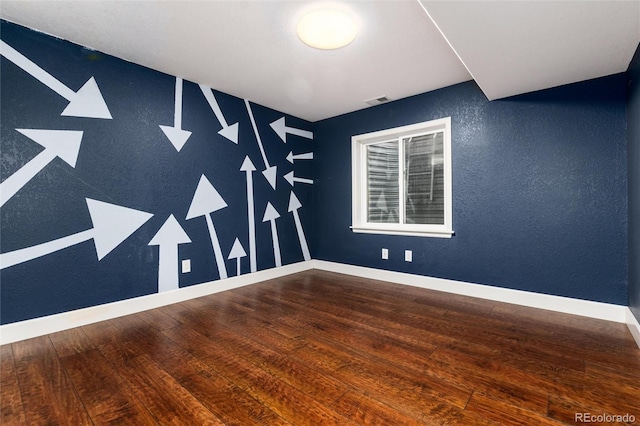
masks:
{"label": "glossy reddish-brown hardwood plank floor", "polygon": [[2,425],[640,424],[624,324],[316,270],[0,360]]}

